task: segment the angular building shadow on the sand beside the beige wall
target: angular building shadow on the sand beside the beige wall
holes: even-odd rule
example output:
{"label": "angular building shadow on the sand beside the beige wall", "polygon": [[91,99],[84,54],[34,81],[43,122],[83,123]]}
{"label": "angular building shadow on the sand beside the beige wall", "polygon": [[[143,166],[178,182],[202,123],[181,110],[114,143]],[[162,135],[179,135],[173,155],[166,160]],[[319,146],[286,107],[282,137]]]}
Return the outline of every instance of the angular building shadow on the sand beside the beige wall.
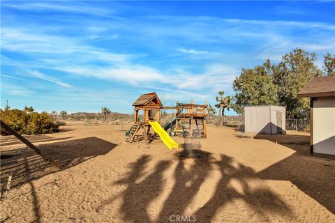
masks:
{"label": "angular building shadow on the sand beside the beige wall", "polygon": [[257,135],[296,151],[284,160],[260,171],[258,177],[267,180],[289,180],[330,212],[335,214],[335,157],[312,156],[309,136],[306,135]]}

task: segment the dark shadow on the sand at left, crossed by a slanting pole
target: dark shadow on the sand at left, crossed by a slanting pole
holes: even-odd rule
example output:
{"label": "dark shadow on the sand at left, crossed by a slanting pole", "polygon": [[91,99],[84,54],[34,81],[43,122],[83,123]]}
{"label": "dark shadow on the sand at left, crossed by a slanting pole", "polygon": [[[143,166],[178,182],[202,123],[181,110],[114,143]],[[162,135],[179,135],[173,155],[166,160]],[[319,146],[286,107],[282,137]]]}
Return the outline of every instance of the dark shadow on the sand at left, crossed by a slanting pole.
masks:
{"label": "dark shadow on the sand at left, crossed by a slanting pole", "polygon": [[[109,141],[88,137],[38,145],[38,148],[61,164],[63,169],[68,169],[98,155],[105,155],[115,146],[117,144]],[[1,188],[9,175],[12,175],[10,187],[17,187],[56,171],[59,169],[54,169],[27,146],[1,151]]]}

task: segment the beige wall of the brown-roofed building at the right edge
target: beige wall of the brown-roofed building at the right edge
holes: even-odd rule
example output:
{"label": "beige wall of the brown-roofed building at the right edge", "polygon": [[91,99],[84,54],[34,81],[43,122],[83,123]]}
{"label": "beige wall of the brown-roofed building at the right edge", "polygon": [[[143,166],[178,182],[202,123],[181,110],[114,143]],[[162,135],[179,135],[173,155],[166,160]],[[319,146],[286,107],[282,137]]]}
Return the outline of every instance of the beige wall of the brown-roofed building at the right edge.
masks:
{"label": "beige wall of the brown-roofed building at the right edge", "polygon": [[313,151],[335,155],[335,97],[313,101]]}

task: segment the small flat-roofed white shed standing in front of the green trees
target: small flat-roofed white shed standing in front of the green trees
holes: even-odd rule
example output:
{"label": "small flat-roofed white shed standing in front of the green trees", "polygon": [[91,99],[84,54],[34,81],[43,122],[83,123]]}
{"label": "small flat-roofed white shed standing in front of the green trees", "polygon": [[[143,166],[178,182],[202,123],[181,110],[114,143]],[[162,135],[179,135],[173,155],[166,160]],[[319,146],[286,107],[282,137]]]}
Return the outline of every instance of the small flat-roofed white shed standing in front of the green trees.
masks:
{"label": "small flat-roofed white shed standing in front of the green trees", "polygon": [[258,134],[278,134],[285,131],[286,109],[275,105],[244,107],[244,130]]}

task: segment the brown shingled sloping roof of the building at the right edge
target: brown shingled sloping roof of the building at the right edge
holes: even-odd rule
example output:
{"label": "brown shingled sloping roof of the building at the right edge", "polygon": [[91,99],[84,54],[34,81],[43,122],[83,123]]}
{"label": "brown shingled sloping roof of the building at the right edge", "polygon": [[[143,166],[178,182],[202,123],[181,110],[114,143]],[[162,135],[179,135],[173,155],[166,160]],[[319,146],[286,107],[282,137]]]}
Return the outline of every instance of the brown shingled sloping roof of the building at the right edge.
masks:
{"label": "brown shingled sloping roof of the building at the right edge", "polygon": [[335,76],[315,77],[297,95],[299,98],[335,96]]}

